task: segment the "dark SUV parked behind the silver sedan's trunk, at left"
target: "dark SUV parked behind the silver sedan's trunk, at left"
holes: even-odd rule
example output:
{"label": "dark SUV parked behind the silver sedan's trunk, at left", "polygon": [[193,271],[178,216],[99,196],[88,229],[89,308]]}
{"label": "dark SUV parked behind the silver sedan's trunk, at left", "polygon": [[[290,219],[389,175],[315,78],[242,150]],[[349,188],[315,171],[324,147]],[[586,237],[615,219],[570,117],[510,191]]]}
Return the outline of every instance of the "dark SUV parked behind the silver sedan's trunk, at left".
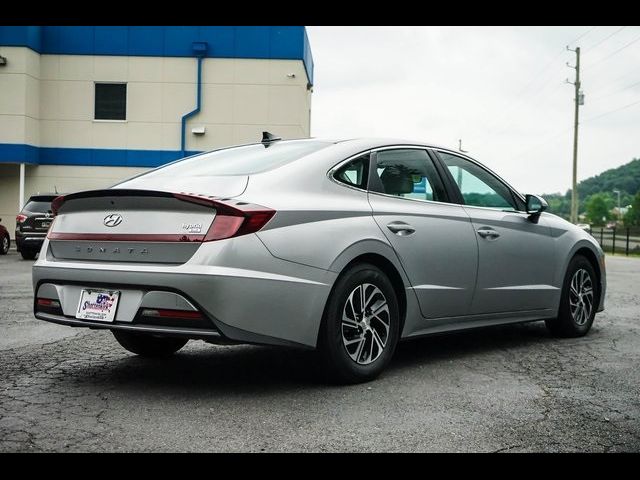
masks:
{"label": "dark SUV parked behind the silver sedan's trunk, at left", "polygon": [[40,251],[53,221],[51,201],[57,196],[31,196],[16,217],[16,249],[25,260],[33,260]]}

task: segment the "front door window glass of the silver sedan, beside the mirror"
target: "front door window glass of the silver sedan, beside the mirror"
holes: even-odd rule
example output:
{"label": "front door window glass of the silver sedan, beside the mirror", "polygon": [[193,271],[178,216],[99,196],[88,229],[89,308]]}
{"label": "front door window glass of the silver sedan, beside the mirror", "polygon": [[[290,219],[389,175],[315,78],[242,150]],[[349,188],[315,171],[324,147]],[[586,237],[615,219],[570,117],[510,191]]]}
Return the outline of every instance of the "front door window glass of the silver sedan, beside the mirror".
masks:
{"label": "front door window glass of the silver sedan, beside the mirror", "polygon": [[515,208],[511,191],[496,177],[473,162],[440,152],[458,185],[465,205],[489,208]]}

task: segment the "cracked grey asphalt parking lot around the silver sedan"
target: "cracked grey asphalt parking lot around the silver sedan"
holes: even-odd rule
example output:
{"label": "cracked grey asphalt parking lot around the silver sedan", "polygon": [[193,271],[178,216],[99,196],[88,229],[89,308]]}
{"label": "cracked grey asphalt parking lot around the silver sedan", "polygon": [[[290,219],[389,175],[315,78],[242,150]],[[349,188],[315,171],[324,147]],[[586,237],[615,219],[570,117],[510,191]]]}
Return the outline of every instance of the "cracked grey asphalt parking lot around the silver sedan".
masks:
{"label": "cracked grey asphalt parking lot around the silver sedan", "polygon": [[313,355],[190,342],[149,361],[33,318],[31,264],[0,257],[0,451],[640,451],[640,259],[607,258],[590,334],[542,323],[404,343],[338,387]]}

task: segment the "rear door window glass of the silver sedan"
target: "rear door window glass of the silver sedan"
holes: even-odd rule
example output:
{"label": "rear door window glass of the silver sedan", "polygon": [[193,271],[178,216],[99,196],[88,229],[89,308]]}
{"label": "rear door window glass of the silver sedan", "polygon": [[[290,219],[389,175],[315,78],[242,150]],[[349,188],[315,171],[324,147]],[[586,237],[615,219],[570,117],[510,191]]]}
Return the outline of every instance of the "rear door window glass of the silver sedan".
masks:
{"label": "rear door window glass of the silver sedan", "polygon": [[387,195],[445,202],[438,172],[425,150],[382,150],[376,154],[378,189]]}

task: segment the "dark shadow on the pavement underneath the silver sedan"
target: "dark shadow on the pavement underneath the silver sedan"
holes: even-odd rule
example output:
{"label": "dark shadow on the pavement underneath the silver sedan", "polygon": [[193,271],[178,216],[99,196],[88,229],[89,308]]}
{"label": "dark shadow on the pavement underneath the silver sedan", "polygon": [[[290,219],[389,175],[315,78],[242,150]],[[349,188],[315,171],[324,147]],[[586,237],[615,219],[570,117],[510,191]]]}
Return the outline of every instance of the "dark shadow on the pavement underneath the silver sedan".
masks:
{"label": "dark shadow on the pavement underneath the silver sedan", "polygon": [[[504,349],[519,349],[555,341],[544,324],[508,325],[448,333],[401,343],[379,381],[394,381],[417,368],[442,361]],[[119,348],[115,346],[114,348]],[[214,346],[192,342],[183,351],[165,359],[145,359],[125,354],[108,363],[87,366],[96,369],[90,378],[101,377],[118,390],[180,391],[237,394],[301,389],[349,388],[327,381],[318,367],[315,352],[265,346]],[[105,378],[106,377],[106,378]],[[386,380],[385,380],[386,377]],[[78,381],[76,376],[75,381]]]}

